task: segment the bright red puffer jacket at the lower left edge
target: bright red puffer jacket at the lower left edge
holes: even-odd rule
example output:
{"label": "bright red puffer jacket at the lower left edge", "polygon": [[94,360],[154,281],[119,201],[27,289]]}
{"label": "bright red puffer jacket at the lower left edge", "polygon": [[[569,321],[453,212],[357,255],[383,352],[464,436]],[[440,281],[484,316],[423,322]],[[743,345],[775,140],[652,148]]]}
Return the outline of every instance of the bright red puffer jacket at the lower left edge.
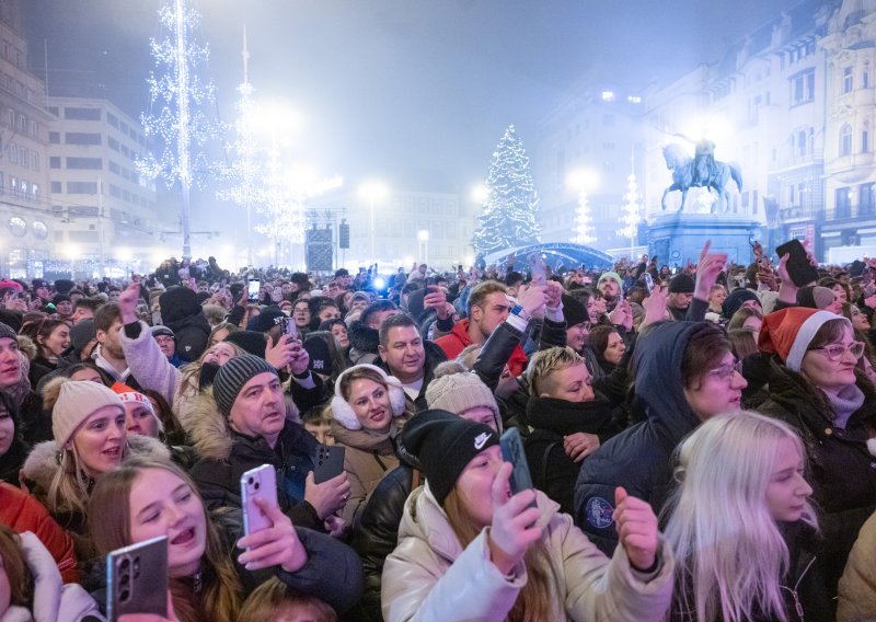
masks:
{"label": "bright red puffer jacket at the lower left edge", "polygon": [[55,522],[36,497],[0,482],[0,523],[19,533],[32,531],[51,553],[64,583],[79,583],[72,538]]}

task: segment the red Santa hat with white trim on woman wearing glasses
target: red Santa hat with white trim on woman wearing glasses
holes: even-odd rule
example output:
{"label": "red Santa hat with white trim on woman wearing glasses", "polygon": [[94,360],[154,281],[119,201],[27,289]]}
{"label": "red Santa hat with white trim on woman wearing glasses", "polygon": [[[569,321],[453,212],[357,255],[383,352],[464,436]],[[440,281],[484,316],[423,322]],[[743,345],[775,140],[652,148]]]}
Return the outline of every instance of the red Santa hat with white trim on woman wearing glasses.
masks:
{"label": "red Santa hat with white trim on woman wearing glasses", "polygon": [[792,371],[799,371],[803,357],[818,330],[831,320],[841,320],[851,329],[852,323],[829,311],[805,307],[789,307],[763,318],[758,347],[766,354],[777,354]]}

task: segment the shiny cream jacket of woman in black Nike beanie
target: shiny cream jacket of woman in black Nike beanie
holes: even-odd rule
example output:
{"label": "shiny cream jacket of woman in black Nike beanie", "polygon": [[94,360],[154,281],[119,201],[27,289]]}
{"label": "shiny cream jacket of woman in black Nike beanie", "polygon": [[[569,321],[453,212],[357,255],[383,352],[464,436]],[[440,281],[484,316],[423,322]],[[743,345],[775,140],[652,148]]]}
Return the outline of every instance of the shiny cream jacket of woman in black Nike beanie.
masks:
{"label": "shiny cream jacket of woman in black Nike beanie", "polygon": [[[541,542],[554,577],[550,620],[662,620],[672,596],[675,563],[661,548],[654,577],[633,571],[625,550],[606,557],[558,506],[539,493]],[[441,507],[418,488],[405,506],[399,545],[383,566],[383,618],[500,621],[527,581],[519,563],[510,576],[489,561],[488,529],[463,549]],[[649,578],[649,580],[648,580]]]}

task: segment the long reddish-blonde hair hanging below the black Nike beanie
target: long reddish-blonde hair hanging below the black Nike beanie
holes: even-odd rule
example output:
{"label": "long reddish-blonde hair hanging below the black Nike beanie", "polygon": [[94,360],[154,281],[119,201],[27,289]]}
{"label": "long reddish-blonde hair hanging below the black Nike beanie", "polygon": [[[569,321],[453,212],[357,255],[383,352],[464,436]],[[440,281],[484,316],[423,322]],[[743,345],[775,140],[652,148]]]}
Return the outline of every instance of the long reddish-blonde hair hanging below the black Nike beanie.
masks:
{"label": "long reddish-blonde hair hanging below the black Nike beanie", "polygon": [[[477,538],[481,530],[456,487],[445,498],[443,509],[460,544],[463,549],[466,548]],[[523,564],[527,567],[528,579],[508,612],[507,620],[509,622],[550,620],[557,598],[554,594],[556,579],[543,539],[532,543],[523,556]]]}

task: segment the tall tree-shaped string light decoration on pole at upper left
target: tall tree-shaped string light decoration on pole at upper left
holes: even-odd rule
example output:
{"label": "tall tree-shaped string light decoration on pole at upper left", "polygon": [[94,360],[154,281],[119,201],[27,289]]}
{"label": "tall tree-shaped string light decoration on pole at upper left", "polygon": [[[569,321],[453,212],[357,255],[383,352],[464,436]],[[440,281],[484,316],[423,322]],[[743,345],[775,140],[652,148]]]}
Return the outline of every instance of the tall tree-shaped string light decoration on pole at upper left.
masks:
{"label": "tall tree-shaped string light decoration on pole at upper left", "polygon": [[163,178],[169,188],[180,184],[183,258],[191,260],[189,195],[193,185],[203,186],[216,171],[204,148],[220,137],[223,128],[205,112],[212,108],[216,90],[197,72],[210,56],[209,47],[193,36],[200,14],[186,8],[185,0],[169,0],[158,14],[168,34],[150,41],[157,70],[147,80],[150,110],[142,113],[140,122],[147,138],[160,139],[162,147],[158,154],[138,158],[137,166],[149,178]]}

